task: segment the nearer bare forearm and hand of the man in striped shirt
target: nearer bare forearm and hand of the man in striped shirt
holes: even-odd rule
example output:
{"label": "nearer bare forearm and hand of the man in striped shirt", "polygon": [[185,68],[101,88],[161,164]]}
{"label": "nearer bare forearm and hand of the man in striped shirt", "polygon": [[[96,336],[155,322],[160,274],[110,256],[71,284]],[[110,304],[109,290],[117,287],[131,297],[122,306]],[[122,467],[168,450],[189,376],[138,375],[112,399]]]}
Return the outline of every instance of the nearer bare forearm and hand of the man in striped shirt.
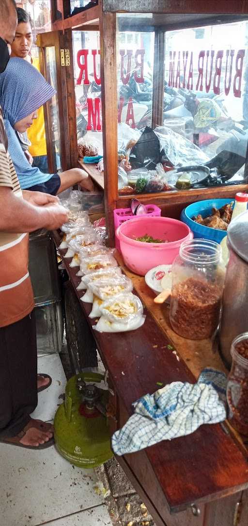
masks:
{"label": "nearer bare forearm and hand of the man in striped shirt", "polygon": [[11,188],[0,187],[0,231],[33,232],[38,228],[53,230],[67,221],[66,209],[58,204],[34,206],[17,197]]}

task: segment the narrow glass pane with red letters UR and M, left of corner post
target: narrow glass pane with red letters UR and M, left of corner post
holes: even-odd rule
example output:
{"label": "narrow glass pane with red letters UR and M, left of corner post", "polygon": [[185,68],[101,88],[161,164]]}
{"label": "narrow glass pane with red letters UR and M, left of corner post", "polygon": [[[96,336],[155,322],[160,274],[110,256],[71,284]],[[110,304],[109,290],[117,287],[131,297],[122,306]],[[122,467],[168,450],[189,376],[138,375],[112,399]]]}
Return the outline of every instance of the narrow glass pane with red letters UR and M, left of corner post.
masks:
{"label": "narrow glass pane with red letters UR and M, left of corner post", "polygon": [[100,34],[73,31],[72,43],[79,157],[102,155]]}

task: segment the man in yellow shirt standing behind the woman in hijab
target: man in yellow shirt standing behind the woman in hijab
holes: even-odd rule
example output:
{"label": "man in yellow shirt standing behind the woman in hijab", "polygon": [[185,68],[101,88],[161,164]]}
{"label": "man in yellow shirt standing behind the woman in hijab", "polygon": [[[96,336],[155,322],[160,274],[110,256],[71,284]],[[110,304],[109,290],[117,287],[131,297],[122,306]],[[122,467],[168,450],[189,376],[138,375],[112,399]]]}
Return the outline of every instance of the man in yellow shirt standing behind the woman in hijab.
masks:
{"label": "man in yellow shirt standing behind the woman in hijab", "polygon": [[[30,62],[38,71],[39,58],[31,57],[30,49],[33,44],[32,21],[24,9],[17,7],[18,25],[16,28],[15,39],[11,45],[12,57],[24,58]],[[37,119],[23,136],[19,136],[21,146],[25,150],[25,155],[30,164],[33,158],[33,166],[37,166],[42,172],[49,173],[47,164],[47,145],[44,122],[43,106],[37,111]],[[28,149],[27,149],[28,148]],[[57,166],[59,168],[59,166]]]}

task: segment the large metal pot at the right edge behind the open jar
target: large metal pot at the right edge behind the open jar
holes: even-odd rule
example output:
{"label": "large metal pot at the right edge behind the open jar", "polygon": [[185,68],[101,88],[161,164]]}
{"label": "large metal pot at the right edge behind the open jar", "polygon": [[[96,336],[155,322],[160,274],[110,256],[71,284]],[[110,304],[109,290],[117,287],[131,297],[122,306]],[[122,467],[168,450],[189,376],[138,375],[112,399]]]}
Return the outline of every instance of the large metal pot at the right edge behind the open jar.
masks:
{"label": "large metal pot at the right edge behind the open jar", "polygon": [[220,327],[220,350],[231,367],[232,340],[248,331],[248,211],[240,214],[228,227],[230,251]]}

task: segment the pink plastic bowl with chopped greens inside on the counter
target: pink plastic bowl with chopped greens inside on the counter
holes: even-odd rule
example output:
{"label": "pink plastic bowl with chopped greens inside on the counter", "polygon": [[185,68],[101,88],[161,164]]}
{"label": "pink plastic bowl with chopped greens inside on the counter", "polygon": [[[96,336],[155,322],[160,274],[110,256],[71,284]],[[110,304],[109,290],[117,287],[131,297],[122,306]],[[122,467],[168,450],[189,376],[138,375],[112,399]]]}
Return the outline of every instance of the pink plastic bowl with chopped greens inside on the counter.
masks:
{"label": "pink plastic bowl with chopped greens inside on the counter", "polygon": [[[167,243],[144,243],[137,237],[148,234]],[[190,228],[183,222],[169,217],[136,217],[116,230],[125,264],[130,270],[145,276],[157,265],[170,265],[179,254],[182,241],[193,239]]]}

